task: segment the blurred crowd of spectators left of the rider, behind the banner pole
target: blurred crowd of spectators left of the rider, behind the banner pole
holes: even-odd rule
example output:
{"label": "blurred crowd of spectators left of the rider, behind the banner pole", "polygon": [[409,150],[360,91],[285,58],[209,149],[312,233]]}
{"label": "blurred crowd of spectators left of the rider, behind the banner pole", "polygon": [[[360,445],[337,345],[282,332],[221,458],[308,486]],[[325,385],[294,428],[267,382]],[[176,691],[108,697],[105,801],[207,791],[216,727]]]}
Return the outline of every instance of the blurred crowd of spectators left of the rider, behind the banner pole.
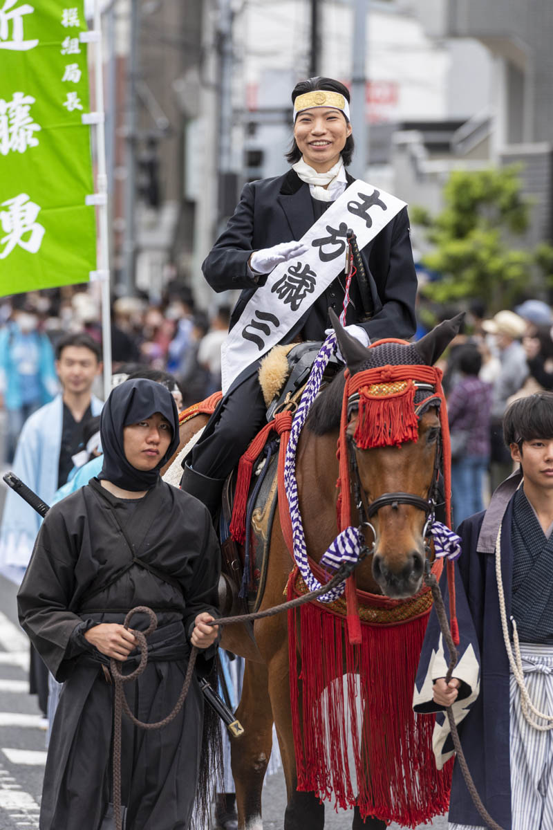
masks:
{"label": "blurred crowd of spectators left of the rider, behind the banner pole", "polygon": [[[112,308],[112,369],[167,370],[177,379],[183,407],[221,388],[221,342],[230,309],[211,315],[195,307],[192,294],[169,286],[163,301],[120,297]],[[0,298],[0,412],[3,451],[13,459],[22,424],[59,392],[55,346],[63,334],[85,332],[101,342],[101,310],[95,286],[67,286]],[[95,393],[103,397],[101,378]]]}

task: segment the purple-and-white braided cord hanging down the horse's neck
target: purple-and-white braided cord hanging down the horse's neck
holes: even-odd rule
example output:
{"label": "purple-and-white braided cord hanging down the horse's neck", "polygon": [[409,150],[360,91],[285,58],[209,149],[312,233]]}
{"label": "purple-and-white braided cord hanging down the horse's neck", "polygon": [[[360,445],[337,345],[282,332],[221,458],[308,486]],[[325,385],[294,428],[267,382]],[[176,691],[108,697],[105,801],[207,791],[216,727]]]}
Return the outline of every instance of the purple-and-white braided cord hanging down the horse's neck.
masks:
{"label": "purple-and-white braided cord hanging down the horse's neck", "polygon": [[[305,534],[303,533],[302,516],[299,511],[298,502],[298,482],[296,481],[296,452],[298,450],[299,435],[302,431],[303,425],[308,417],[309,409],[313,401],[317,397],[318,390],[323,380],[323,373],[327,367],[327,363],[336,350],[337,339],[336,334],[329,334],[324,341],[315,361],[311,374],[309,375],[308,383],[303,390],[302,399],[299,403],[298,410],[293,418],[292,428],[290,430],[290,437],[288,447],[286,449],[286,457],[284,459],[284,487],[286,496],[288,498],[290,520],[292,524],[293,536],[293,558],[300,574],[302,574],[303,582],[306,584],[309,591],[317,590],[321,587],[321,583],[313,575],[309,568],[308,551],[305,544]],[[357,528],[348,527],[342,530],[342,533],[337,535],[337,538],[332,542],[330,547],[321,559],[321,564],[326,567],[339,568],[344,561],[357,562],[361,552],[361,546],[365,543],[364,537]],[[342,596],[344,592],[344,585],[337,585],[328,593],[319,597],[319,602],[331,603],[338,597]]]}

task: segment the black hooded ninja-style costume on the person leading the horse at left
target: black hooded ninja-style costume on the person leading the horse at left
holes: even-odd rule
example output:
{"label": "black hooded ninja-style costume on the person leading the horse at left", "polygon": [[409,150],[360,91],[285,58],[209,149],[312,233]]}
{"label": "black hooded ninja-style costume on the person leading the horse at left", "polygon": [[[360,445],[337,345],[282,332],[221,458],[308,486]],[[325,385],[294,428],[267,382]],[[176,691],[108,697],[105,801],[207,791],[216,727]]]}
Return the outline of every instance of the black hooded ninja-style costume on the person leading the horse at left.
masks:
{"label": "black hooded ninja-style costume on the person leading the horse at left", "polygon": [[[124,456],[123,429],[156,412],[172,425],[172,442],[153,471],[138,471]],[[41,525],[18,593],[22,627],[56,680],[64,682],[46,761],[41,830],[114,826],[106,818],[114,686],[104,672],[109,658],[85,639],[85,631],[98,623],[123,623],[137,605],[157,614],[158,628],[148,637],[147,669],[124,687],[138,719],[153,722],[168,715],[177,701],[196,615],[216,615],[220,552],[211,517],[199,501],[159,475],[178,446],[171,393],[150,380],[126,381],[105,403],[100,431],[104,466],[99,478],[147,494],[123,500],[92,479],[54,505]],[[131,625],[145,630],[148,618],[137,615]],[[215,651],[214,645],[199,653],[197,671],[209,668]],[[137,662],[138,652],[132,652],[125,673]],[[189,827],[202,716],[195,677],[181,712],[163,729],[139,730],[124,717],[127,828]]]}

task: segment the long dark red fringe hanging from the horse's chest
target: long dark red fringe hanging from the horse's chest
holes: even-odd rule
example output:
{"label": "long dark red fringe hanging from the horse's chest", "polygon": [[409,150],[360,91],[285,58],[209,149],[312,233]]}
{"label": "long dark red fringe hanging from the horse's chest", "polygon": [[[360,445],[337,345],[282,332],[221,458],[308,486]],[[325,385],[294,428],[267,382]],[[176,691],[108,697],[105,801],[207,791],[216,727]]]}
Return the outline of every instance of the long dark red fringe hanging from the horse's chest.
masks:
{"label": "long dark red fringe hanging from the horse's chest", "polygon": [[[340,808],[357,804],[362,818],[409,828],[447,811],[452,764],[436,769],[434,716],[412,709],[427,620],[424,614],[398,625],[362,623],[361,643],[353,646],[343,618],[319,604],[289,612],[299,791],[333,797]],[[350,733],[355,770],[348,760]]]}

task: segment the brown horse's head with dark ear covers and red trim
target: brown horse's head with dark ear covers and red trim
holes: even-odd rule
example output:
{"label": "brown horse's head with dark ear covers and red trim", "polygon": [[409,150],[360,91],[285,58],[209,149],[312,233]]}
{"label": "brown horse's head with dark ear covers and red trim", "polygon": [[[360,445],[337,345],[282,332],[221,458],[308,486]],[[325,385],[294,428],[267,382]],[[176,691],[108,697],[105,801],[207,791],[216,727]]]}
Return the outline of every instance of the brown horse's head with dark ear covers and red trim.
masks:
{"label": "brown horse's head with dark ear covers and red trim", "polygon": [[372,577],[391,598],[421,587],[447,429],[441,372],[433,367],[463,316],[414,344],[387,339],[368,349],[332,317],[347,364],[341,452],[349,461],[352,512],[358,510],[372,544]]}

